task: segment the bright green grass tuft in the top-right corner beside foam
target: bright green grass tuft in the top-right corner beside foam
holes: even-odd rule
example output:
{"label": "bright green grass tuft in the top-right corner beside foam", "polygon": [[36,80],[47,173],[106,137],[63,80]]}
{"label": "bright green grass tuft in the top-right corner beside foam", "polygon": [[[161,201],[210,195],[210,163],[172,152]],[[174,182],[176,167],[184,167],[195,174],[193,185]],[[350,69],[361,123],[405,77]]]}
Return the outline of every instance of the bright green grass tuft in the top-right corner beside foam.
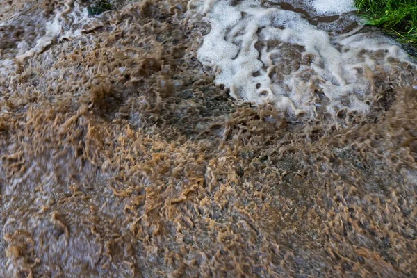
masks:
{"label": "bright green grass tuft in the top-right corner beside foam", "polygon": [[379,26],[402,43],[417,46],[417,0],[355,0],[366,24]]}

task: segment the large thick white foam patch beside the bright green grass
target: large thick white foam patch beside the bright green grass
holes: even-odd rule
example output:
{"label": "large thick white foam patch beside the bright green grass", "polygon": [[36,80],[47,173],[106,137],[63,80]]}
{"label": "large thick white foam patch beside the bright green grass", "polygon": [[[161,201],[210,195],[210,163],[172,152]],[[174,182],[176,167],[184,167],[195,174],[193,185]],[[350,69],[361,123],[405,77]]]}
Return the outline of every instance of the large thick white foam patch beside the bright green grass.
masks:
{"label": "large thick white foam patch beside the bright green grass", "polygon": [[[334,117],[342,108],[365,113],[370,82],[363,72],[379,65],[389,68],[389,57],[407,61],[407,55],[386,38],[366,34],[331,38],[300,14],[265,8],[257,0],[236,6],[225,0],[193,0],[188,8],[193,21],[211,25],[197,56],[213,67],[215,83],[230,88],[235,99],[270,101],[295,115],[318,116],[316,107],[322,104],[314,88],[325,94],[327,112]],[[383,59],[366,54],[381,49],[386,50]]]}

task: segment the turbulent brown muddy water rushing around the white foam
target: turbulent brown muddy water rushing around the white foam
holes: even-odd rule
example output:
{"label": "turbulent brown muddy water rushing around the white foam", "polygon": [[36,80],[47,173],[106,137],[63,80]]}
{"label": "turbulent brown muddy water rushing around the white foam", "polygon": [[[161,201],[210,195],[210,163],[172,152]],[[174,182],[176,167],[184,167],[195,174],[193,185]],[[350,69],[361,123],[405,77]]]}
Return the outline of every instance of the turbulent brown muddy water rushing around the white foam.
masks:
{"label": "turbulent brown muddy water rushing around the white foam", "polygon": [[75,1],[22,61],[65,5],[2,6],[1,276],[417,276],[411,65],[368,73],[367,113],[246,104],[187,3]]}

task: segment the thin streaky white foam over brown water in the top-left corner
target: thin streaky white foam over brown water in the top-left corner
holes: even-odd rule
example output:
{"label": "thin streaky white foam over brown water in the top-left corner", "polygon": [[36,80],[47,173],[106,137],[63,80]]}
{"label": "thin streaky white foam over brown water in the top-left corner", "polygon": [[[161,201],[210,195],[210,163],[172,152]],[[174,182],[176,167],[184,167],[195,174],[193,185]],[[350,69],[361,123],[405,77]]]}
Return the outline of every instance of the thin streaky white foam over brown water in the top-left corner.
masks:
{"label": "thin streaky white foam over brown water in the top-left corner", "polygon": [[[49,45],[70,40],[102,26],[99,17],[88,17],[84,3],[67,0],[44,13],[41,6],[28,6],[0,22],[0,73],[8,75],[24,60],[40,54]],[[19,38],[15,31],[22,33]],[[17,62],[17,63],[16,63]]]}

